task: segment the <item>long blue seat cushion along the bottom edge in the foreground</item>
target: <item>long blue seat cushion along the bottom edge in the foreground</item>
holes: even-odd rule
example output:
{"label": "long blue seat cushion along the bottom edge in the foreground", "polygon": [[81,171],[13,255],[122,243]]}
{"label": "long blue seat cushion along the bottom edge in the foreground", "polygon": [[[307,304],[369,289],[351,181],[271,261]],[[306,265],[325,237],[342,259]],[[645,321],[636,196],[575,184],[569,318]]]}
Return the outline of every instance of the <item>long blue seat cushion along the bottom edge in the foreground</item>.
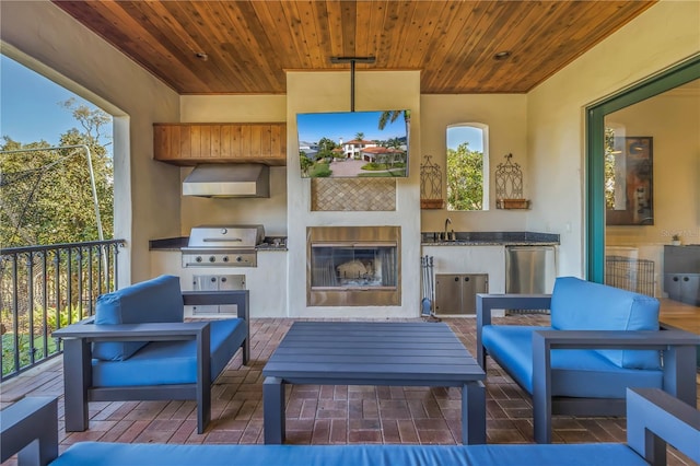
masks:
{"label": "long blue seat cushion along the bottom edge in the foreground", "polygon": [[648,465],[621,443],[544,445],[175,445],[81,442],[52,466]]}

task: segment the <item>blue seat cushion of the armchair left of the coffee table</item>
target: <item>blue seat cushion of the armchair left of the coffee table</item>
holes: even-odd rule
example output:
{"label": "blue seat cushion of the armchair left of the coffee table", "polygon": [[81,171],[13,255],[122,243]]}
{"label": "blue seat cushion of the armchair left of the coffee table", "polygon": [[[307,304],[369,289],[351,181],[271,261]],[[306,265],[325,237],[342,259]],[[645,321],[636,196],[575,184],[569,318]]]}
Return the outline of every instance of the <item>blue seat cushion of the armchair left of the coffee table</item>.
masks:
{"label": "blue seat cushion of the armchair left of the coffee table", "polygon": [[[210,324],[211,381],[223,371],[247,337],[245,321]],[[197,381],[195,340],[152,341],[126,361],[92,360],[95,387],[191,384]]]}

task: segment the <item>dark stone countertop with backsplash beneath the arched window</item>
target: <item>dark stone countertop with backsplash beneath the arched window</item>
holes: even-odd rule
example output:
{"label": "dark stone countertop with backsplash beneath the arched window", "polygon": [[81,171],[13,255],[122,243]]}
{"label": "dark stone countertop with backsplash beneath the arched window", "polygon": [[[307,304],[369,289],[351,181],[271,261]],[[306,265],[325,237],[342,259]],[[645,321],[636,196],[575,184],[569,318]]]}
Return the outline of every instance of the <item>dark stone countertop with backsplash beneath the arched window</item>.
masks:
{"label": "dark stone countertop with backsplash beneath the arched window", "polygon": [[[454,232],[444,240],[443,232],[421,233],[421,246],[556,246],[559,235],[533,232]],[[454,240],[453,240],[454,237]]]}

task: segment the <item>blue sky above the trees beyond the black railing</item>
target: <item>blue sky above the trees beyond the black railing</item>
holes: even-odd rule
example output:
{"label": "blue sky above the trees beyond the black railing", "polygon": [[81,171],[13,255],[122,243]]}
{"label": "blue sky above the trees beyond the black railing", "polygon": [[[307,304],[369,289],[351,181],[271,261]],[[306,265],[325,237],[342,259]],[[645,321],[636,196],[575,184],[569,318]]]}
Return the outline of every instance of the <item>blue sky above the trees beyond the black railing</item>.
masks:
{"label": "blue sky above the trees beyond the black railing", "polygon": [[[82,127],[60,103],[74,97],[78,104],[95,105],[0,55],[0,137],[24,144],[45,140],[56,145],[61,133]],[[104,128],[109,133],[112,127]]]}

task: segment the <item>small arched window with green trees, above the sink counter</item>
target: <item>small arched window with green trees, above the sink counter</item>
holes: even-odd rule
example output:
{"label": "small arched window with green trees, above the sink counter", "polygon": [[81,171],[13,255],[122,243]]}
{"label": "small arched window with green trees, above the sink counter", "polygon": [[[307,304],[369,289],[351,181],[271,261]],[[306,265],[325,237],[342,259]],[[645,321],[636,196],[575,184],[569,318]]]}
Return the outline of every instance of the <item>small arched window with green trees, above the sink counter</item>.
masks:
{"label": "small arched window with green trees, above the sink counter", "polygon": [[447,210],[489,209],[488,126],[447,127]]}

